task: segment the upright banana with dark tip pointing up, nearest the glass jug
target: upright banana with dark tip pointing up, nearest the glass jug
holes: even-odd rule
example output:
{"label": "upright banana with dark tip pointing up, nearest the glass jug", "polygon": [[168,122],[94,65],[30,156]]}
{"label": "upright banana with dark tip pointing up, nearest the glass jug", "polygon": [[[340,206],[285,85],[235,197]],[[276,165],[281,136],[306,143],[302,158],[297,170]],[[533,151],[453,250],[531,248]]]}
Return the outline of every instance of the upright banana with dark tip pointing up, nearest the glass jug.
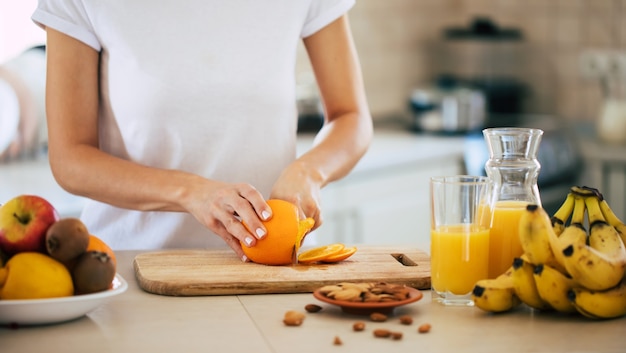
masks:
{"label": "upright banana with dark tip pointing up, nearest the glass jug", "polygon": [[548,213],[537,205],[528,205],[519,221],[519,236],[524,254],[533,265],[548,264],[565,271],[552,252],[551,238],[557,238]]}

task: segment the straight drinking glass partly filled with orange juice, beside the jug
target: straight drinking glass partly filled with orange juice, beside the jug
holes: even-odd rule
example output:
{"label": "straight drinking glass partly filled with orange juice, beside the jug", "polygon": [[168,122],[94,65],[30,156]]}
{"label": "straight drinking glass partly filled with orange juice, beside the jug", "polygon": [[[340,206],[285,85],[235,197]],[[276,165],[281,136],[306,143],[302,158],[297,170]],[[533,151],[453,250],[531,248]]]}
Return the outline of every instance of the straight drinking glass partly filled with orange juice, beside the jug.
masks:
{"label": "straight drinking glass partly filled with orange juice, beside the jug", "polygon": [[490,181],[484,176],[430,179],[433,300],[472,306],[476,282],[489,275]]}

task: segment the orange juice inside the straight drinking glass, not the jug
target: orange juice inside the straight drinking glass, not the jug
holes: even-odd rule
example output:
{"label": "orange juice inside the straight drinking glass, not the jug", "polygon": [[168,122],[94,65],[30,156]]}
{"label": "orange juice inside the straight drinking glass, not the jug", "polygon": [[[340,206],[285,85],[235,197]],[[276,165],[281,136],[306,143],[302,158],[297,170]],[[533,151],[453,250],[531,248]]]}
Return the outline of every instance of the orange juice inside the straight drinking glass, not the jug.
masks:
{"label": "orange juice inside the straight drinking glass, not the jug", "polygon": [[487,278],[489,228],[471,224],[431,230],[431,282],[437,292],[465,295]]}

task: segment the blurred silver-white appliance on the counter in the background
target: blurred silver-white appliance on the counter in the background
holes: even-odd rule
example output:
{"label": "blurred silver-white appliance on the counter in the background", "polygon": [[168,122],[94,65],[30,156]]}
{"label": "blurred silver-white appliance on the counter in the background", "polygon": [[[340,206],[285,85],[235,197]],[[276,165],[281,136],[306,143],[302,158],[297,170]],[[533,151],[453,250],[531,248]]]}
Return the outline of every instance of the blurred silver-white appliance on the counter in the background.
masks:
{"label": "blurred silver-white appliance on the counter in the background", "polygon": [[416,131],[467,133],[484,127],[486,102],[482,91],[442,76],[436,86],[413,90],[412,127]]}

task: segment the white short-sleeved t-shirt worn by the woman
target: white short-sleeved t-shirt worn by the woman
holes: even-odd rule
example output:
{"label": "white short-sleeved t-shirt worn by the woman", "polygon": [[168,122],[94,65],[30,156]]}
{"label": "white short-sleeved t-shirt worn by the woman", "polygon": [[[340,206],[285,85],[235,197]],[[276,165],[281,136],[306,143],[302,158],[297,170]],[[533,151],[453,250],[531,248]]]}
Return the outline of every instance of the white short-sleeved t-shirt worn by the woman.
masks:
{"label": "white short-sleeved t-shirt worn by the woman", "polygon": [[[103,151],[247,182],[267,198],[296,157],[298,42],[353,4],[40,0],[32,18],[100,51]],[[82,219],[114,249],[225,246],[186,213],[89,201]]]}

